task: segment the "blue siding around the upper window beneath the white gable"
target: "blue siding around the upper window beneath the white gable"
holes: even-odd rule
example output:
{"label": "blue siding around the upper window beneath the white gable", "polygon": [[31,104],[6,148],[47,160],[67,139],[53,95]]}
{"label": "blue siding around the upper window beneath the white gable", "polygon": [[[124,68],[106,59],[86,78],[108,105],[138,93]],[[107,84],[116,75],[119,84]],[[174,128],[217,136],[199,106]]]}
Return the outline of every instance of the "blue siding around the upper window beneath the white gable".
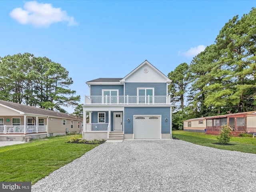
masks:
{"label": "blue siding around the upper window beneath the white gable", "polygon": [[125,83],[125,95],[137,95],[137,88],[154,88],[155,96],[166,95],[166,83]]}

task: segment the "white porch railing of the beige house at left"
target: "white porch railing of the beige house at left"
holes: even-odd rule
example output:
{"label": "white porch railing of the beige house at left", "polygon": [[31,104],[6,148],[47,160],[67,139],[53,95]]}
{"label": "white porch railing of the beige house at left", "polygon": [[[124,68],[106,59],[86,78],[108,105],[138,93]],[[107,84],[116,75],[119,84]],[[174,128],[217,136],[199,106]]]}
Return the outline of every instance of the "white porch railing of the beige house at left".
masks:
{"label": "white porch railing of the beige house at left", "polygon": [[46,125],[39,125],[39,126],[3,125],[3,126],[0,126],[0,134],[12,134],[12,133],[26,134],[26,133],[40,133],[40,132],[47,132],[47,126]]}

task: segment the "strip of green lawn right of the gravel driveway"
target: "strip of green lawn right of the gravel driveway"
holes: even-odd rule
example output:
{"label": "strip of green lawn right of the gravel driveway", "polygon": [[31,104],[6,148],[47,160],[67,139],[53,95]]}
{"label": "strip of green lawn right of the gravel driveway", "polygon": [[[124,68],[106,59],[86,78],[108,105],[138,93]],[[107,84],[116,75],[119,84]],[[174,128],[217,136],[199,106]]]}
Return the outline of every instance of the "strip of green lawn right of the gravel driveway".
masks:
{"label": "strip of green lawn right of the gravel driveway", "polygon": [[233,145],[222,146],[214,144],[218,142],[216,135],[175,130],[172,131],[172,136],[174,138],[202,146],[256,154],[256,138],[252,137],[232,137],[230,144]]}

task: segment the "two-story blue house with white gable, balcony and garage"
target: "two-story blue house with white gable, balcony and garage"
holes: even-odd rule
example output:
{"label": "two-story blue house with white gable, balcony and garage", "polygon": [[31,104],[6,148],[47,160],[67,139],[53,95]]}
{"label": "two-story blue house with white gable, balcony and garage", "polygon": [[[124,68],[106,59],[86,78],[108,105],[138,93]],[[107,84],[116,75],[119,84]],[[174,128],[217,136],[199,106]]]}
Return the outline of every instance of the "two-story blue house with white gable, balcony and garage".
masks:
{"label": "two-story blue house with white gable, balcony and garage", "polygon": [[86,82],[90,96],[85,96],[83,113],[89,113],[89,123],[84,124],[83,138],[170,139],[170,82],[147,60],[124,78],[98,78]]}

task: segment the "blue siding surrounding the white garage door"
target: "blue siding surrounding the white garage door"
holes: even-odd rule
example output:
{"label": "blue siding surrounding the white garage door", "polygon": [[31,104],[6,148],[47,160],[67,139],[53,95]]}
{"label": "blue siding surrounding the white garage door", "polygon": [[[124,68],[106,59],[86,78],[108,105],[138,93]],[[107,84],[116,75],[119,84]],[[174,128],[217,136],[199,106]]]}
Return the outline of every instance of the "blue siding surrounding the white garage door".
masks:
{"label": "blue siding surrounding the white garage door", "polygon": [[[162,115],[162,134],[170,134],[170,107],[125,107],[124,108],[124,134],[133,134],[134,115]],[[130,121],[128,122],[128,118]],[[165,121],[165,118],[168,121]]]}

